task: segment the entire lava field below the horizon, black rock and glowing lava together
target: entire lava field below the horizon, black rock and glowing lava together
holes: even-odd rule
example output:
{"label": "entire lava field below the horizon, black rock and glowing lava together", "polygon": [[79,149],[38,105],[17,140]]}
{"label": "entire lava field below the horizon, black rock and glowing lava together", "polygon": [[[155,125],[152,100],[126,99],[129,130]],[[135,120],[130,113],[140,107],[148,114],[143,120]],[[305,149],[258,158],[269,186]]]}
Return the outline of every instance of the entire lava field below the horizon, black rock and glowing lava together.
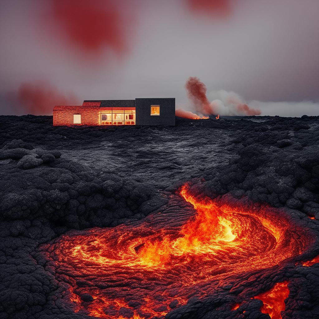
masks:
{"label": "entire lava field below the horizon, black rock and glowing lava together", "polygon": [[319,116],[0,116],[0,318],[319,318]]}

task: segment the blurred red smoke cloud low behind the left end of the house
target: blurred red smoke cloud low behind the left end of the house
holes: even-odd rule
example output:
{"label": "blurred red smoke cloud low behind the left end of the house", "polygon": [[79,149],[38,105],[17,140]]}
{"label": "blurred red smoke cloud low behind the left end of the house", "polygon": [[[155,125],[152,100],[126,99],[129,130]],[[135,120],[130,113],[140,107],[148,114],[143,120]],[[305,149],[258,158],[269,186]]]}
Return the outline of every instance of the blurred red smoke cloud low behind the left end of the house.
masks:
{"label": "blurred red smoke cloud low behind the left end of the house", "polygon": [[78,104],[78,99],[72,93],[63,94],[56,87],[42,82],[23,83],[7,98],[12,108],[22,108],[22,114],[33,115],[52,115],[55,105]]}

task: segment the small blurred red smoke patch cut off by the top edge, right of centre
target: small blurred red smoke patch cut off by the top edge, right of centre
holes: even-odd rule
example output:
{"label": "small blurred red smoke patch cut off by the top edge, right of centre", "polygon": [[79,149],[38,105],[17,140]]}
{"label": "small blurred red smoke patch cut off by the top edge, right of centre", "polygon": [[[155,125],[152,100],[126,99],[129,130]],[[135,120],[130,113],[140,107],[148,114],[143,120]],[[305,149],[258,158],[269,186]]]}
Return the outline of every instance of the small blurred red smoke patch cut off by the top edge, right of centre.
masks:
{"label": "small blurred red smoke patch cut off by the top edge, right of centre", "polygon": [[231,12],[229,0],[187,0],[193,12],[204,12],[211,15],[227,16]]}

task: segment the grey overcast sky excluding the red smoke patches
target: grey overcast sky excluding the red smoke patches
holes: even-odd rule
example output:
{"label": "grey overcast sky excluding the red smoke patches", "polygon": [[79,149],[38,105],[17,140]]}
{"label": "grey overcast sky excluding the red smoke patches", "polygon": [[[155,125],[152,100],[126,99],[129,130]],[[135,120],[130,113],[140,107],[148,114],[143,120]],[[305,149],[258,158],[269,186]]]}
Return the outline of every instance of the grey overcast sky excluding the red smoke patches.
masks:
{"label": "grey overcast sky excluding the red smoke patches", "polygon": [[109,49],[84,56],[65,46],[39,26],[49,4],[0,2],[2,114],[20,112],[4,99],[8,91],[39,80],[79,100],[175,97],[189,106],[184,84],[197,76],[208,97],[226,90],[248,102],[315,102],[303,104],[305,111],[296,111],[296,103],[259,103],[263,115],[319,115],[317,0],[231,1],[226,17],[191,12],[182,0],[135,1],[122,7],[135,23],[121,57]]}

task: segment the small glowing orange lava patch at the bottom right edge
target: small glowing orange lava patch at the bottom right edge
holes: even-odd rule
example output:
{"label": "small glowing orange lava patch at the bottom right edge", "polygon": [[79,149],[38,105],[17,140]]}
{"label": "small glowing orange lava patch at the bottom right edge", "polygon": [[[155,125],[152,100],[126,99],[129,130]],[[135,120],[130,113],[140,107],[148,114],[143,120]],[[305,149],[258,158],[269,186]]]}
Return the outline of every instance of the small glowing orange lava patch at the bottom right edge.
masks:
{"label": "small glowing orange lava patch at the bottom right edge", "polygon": [[260,308],[263,314],[269,314],[271,319],[281,319],[281,311],[285,310],[285,299],[288,298],[288,282],[278,282],[271,290],[261,293],[255,297],[263,301]]}

